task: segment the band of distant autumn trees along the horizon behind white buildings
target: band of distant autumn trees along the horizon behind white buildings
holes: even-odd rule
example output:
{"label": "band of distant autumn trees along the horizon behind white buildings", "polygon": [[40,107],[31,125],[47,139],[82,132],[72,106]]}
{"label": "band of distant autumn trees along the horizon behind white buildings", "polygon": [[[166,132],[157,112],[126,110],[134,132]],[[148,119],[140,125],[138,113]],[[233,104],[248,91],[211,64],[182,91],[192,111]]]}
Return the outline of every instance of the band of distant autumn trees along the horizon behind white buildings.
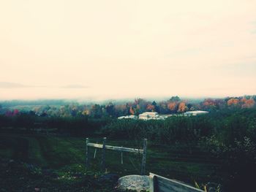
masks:
{"label": "band of distant autumn trees along the horizon behind white buildings", "polygon": [[79,103],[66,100],[37,101],[0,101],[0,114],[15,116],[29,113],[43,117],[83,117],[117,118],[124,115],[139,115],[142,112],[158,112],[159,114],[182,113],[193,110],[208,112],[225,109],[244,109],[255,107],[256,96],[227,97],[225,99],[204,99],[201,101],[180,99],[172,96],[166,101],[109,101],[102,104]]}

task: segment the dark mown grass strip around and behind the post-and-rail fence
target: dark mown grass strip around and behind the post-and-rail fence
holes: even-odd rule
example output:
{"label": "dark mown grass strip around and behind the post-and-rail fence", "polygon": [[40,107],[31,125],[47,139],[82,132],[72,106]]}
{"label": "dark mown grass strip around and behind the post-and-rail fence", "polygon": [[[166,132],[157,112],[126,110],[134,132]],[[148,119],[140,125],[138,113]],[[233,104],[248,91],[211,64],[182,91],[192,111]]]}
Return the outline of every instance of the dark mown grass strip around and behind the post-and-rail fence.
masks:
{"label": "dark mown grass strip around and behind the post-and-rail fence", "polygon": [[[93,138],[91,142],[101,143],[102,139]],[[85,139],[75,137],[53,137],[40,135],[0,135],[0,155],[3,158],[14,159],[34,164],[43,169],[54,169],[59,176],[68,172],[86,172],[85,168]],[[141,147],[140,142],[113,141],[108,139],[107,145],[124,147]],[[94,159],[94,148],[90,148],[90,171],[100,171],[101,150],[97,150]],[[209,160],[210,159],[210,160]],[[121,153],[106,151],[106,168],[108,172],[120,176],[127,174],[140,174],[141,156],[138,154],[124,153],[124,164],[121,164]],[[221,172],[219,164],[211,162],[206,154],[195,151],[188,154],[173,147],[151,145],[148,142],[146,171],[165,177],[185,181],[193,185],[219,182]],[[72,181],[72,180],[71,180]],[[71,182],[69,180],[69,182]]]}

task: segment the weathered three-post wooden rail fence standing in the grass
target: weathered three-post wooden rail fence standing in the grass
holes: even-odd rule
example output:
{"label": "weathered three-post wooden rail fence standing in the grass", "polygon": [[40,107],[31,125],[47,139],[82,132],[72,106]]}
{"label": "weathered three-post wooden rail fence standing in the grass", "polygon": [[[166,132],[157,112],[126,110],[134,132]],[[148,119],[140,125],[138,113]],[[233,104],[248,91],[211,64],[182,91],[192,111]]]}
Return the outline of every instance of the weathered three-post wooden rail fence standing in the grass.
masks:
{"label": "weathered three-post wooden rail fence standing in the grass", "polygon": [[147,139],[143,139],[143,150],[140,149],[134,149],[134,148],[129,148],[129,147],[117,147],[117,146],[110,146],[106,145],[106,137],[103,138],[102,144],[97,144],[97,143],[91,143],[89,142],[89,138],[86,138],[86,169],[89,168],[89,147],[95,147],[96,149],[94,150],[94,158],[97,153],[97,148],[102,149],[102,171],[105,171],[105,150],[116,150],[121,152],[121,164],[123,164],[123,152],[129,152],[129,153],[139,153],[142,154],[142,161],[141,161],[141,170],[140,174],[145,174],[145,169],[146,169],[146,148],[147,148]]}

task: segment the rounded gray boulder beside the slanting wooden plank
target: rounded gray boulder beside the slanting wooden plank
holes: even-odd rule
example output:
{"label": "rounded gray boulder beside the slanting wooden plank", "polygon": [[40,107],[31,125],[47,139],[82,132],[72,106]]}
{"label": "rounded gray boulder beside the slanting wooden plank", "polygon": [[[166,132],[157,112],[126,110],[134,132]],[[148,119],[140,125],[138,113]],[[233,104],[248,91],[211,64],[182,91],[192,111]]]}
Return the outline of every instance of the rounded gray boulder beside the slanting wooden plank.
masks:
{"label": "rounded gray boulder beside the slanting wooden plank", "polygon": [[148,191],[149,177],[146,175],[132,174],[120,177],[118,180],[118,189],[120,191]]}

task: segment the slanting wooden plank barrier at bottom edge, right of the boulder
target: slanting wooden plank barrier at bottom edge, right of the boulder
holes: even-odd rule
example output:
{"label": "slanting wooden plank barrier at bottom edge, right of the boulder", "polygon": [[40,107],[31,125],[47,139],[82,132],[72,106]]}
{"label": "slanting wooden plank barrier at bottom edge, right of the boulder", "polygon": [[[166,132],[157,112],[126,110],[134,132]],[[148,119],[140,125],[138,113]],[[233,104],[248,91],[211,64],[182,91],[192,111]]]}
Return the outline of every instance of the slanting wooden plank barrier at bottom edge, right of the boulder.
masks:
{"label": "slanting wooden plank barrier at bottom edge, right of the boulder", "polygon": [[149,174],[149,185],[150,192],[203,192],[200,189],[153,173]]}

